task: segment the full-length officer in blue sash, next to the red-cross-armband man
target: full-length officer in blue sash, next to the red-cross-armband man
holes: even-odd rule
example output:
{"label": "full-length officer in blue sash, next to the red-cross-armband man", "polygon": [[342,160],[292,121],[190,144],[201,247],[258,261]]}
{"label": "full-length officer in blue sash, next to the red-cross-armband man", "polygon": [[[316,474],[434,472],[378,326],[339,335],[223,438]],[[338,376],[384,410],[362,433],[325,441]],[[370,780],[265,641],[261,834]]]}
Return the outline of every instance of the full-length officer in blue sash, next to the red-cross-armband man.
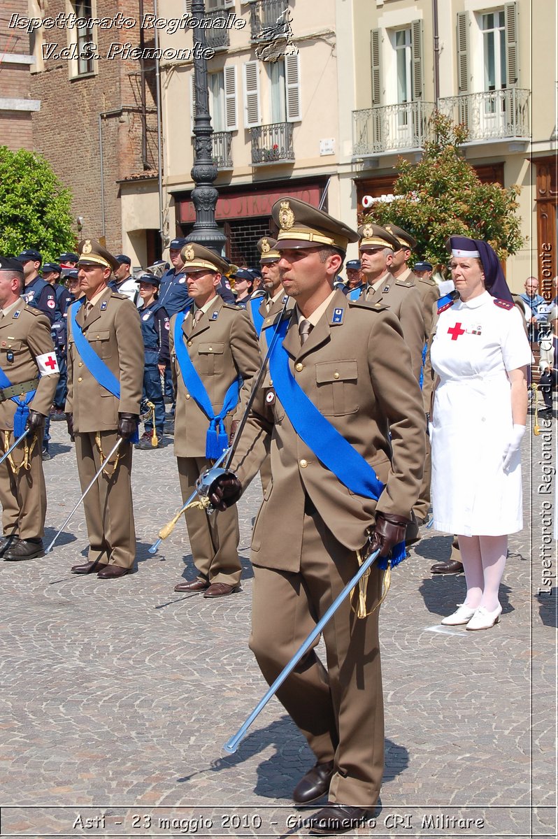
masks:
{"label": "full-length officer in blue sash, next to the red-cross-armband man", "polygon": [[84,500],[88,561],[74,574],[110,580],[132,570],[136,555],[133,523],[132,446],[143,383],[143,340],[138,310],[107,287],[117,260],[95,239],[80,242],[78,275],[84,297],[68,315],[68,430],[76,436],[81,489],[91,482],[116,443],[114,459]]}

